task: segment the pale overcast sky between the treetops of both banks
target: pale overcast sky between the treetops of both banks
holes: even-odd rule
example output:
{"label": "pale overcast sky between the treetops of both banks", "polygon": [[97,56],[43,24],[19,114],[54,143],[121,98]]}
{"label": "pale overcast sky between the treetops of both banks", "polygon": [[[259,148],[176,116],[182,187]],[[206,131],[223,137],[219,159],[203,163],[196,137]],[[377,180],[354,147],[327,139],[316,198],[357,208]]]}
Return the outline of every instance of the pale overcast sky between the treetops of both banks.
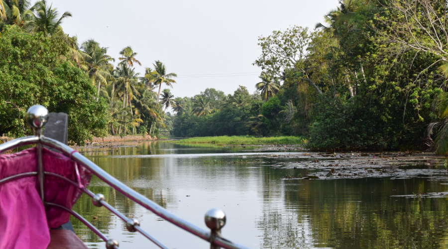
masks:
{"label": "pale overcast sky between the treetops of both banks", "polygon": [[[34,3],[35,1],[33,1]],[[142,66],[155,60],[178,75],[174,97],[192,97],[206,88],[233,94],[238,85],[255,91],[261,69],[259,36],[299,25],[314,28],[337,0],[47,0],[78,42],[95,39],[108,54],[131,46]],[[118,60],[115,61],[115,65]],[[162,89],[164,87],[162,86]]]}

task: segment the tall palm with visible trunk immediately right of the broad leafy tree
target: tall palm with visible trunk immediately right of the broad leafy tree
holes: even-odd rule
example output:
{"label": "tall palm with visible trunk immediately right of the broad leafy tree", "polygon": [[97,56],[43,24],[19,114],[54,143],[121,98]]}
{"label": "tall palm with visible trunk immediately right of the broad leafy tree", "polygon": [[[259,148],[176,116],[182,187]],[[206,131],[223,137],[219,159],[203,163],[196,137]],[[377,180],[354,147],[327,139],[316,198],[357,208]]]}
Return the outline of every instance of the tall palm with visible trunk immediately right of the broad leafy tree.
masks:
{"label": "tall palm with visible trunk immediately right of the broad leafy tree", "polygon": [[98,101],[100,86],[107,85],[107,79],[112,78],[109,73],[112,65],[109,62],[113,61],[113,58],[107,55],[108,48],[101,47],[100,43],[93,39],[83,42],[81,50],[86,54],[84,57],[86,72],[94,84],[98,83]]}

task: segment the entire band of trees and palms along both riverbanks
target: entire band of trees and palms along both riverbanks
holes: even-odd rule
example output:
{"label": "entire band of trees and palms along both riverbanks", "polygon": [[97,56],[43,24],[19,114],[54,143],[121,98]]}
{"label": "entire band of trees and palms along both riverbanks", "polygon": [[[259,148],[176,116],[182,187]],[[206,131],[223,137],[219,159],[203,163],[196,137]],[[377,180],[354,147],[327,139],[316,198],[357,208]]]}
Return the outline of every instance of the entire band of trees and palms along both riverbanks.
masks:
{"label": "entire band of trees and palms along both riverbanks", "polygon": [[162,85],[173,87],[177,75],[161,61],[139,75],[128,46],[114,66],[98,41],[79,44],[64,33],[70,12],[2,0],[0,133],[30,133],[24,114],[41,104],[69,115],[69,140],[78,144],[171,130],[307,137],[313,150],[447,153],[447,2],[341,0],[323,15],[314,30],[295,25],[259,37],[255,93],[240,86],[231,95],[208,88],[175,98]]}

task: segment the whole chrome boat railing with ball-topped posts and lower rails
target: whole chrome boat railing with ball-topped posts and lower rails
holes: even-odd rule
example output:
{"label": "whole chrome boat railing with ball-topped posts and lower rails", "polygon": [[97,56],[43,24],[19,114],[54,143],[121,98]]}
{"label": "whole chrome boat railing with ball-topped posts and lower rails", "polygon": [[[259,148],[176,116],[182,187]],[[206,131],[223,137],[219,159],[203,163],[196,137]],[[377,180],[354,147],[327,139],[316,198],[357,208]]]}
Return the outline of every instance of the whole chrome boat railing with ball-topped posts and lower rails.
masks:
{"label": "whole chrome boat railing with ball-topped posts and lower rails", "polygon": [[[42,135],[42,128],[48,121],[48,111],[43,106],[33,106],[30,109],[28,109],[26,113],[26,120],[28,124],[35,130],[34,136],[26,136],[14,139],[12,141],[8,141],[6,143],[0,144],[0,153],[4,152],[6,150],[10,150],[19,146],[28,145],[28,144],[36,144],[38,148],[38,168],[37,172],[27,172],[27,173],[21,173],[18,175],[10,176],[4,179],[0,179],[0,185],[12,181],[18,178],[22,177],[28,177],[28,176],[37,176],[39,179],[39,193],[42,198],[42,201],[47,206],[53,206],[57,208],[61,208],[67,212],[69,212],[71,215],[79,219],[81,222],[83,222],[89,229],[91,229],[94,233],[96,233],[103,241],[106,242],[106,248],[107,249],[113,249],[118,248],[118,242],[113,239],[108,239],[106,236],[101,233],[95,226],[93,226],[89,221],[87,221],[85,218],[83,218],[81,215],[76,213],[73,210],[67,209],[66,207],[48,203],[44,200],[43,195],[43,182],[46,175],[58,177],[60,179],[63,179],[70,184],[73,184],[76,187],[79,187],[78,182],[74,182],[70,179],[67,179],[66,177],[62,175],[58,175],[51,172],[46,172],[44,169],[45,165],[42,165],[42,157],[41,157],[41,149],[43,145],[49,146],[51,148],[59,150],[61,153],[65,154],[66,156],[69,156],[72,158],[72,160],[76,161],[78,165],[82,165],[86,167],[88,170],[90,170],[94,175],[96,175],[98,178],[103,180],[105,183],[110,185],[112,188],[114,188],[116,191],[120,192],[130,200],[134,201],[135,203],[139,204],[143,208],[150,210],[154,214],[158,215],[159,217],[163,218],[164,220],[176,225],[177,227],[203,239],[208,242],[210,242],[211,249],[219,249],[219,248],[226,248],[226,249],[246,249],[246,247],[235,244],[230,242],[229,240],[224,239],[221,237],[221,229],[225,225],[225,214],[223,211],[218,209],[212,209],[209,210],[205,215],[205,223],[208,228],[210,228],[210,232],[207,230],[204,230],[200,227],[195,226],[194,224],[191,224],[174,214],[168,212],[164,208],[160,207],[153,201],[147,199],[143,195],[137,193],[135,190],[129,188],[128,186],[124,185],[114,177],[112,177],[110,174],[108,174],[106,171],[104,171],[102,168],[100,168],[98,165],[87,159],[85,156],[77,152],[76,150],[70,148],[69,146],[55,140],[49,137],[45,137]],[[115,214],[118,218],[120,218],[123,222],[126,224],[126,228],[129,232],[139,232],[144,237],[149,239],[151,242],[153,242],[155,245],[157,245],[159,248],[167,249],[168,247],[164,246],[162,243],[157,241],[155,238],[153,238],[151,235],[149,235],[147,232],[145,232],[140,227],[140,222],[133,218],[127,218],[122,213],[117,211],[115,208],[113,208],[109,203],[105,201],[104,195],[101,193],[95,194],[92,191],[88,190],[86,187],[80,188],[82,192],[86,193],[92,198],[92,202],[97,207],[105,207],[109,211],[111,211],[113,214]]]}

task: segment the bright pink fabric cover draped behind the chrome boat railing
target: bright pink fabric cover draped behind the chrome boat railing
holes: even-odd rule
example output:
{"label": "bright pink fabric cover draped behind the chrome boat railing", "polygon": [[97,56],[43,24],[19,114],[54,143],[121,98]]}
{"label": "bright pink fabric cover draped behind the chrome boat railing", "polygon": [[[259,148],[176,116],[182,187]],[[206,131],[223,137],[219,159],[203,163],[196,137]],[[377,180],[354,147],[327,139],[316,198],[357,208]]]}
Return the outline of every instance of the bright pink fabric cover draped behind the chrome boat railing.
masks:
{"label": "bright pink fabric cover draped behind the chrome boat railing", "polygon": [[[69,157],[42,149],[44,171],[53,172],[78,182],[76,164]],[[78,166],[81,184],[87,186],[91,174]],[[0,179],[37,171],[37,150],[30,148],[14,154],[0,155]],[[72,184],[53,176],[45,176],[44,198],[69,209],[82,192]],[[57,228],[70,220],[70,214],[45,207],[39,195],[36,176],[24,177],[0,185],[0,249],[47,248],[49,228]]]}

